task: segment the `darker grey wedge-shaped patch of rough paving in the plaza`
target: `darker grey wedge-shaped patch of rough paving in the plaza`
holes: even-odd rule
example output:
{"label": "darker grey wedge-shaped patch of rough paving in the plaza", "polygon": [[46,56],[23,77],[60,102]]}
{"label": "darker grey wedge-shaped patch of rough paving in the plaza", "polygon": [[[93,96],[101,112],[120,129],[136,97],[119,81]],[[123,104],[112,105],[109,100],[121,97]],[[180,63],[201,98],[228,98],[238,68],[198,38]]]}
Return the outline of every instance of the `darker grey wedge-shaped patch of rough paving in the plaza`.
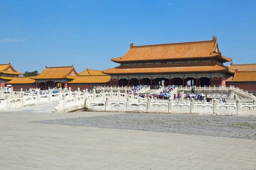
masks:
{"label": "darker grey wedge-shaped patch of rough paving in the plaza", "polygon": [[37,123],[256,139],[256,117],[128,113]]}

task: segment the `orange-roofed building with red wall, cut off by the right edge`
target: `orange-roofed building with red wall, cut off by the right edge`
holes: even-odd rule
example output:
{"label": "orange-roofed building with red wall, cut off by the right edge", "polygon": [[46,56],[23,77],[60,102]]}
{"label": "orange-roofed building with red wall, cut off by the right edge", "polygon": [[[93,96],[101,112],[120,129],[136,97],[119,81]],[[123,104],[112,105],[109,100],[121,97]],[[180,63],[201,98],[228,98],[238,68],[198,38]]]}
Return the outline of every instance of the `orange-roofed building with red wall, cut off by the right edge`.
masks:
{"label": "orange-roofed building with red wall, cut off by the right edge", "polygon": [[230,69],[235,71],[234,76],[226,80],[226,85],[233,85],[237,88],[256,93],[256,64],[233,64],[230,63]]}

